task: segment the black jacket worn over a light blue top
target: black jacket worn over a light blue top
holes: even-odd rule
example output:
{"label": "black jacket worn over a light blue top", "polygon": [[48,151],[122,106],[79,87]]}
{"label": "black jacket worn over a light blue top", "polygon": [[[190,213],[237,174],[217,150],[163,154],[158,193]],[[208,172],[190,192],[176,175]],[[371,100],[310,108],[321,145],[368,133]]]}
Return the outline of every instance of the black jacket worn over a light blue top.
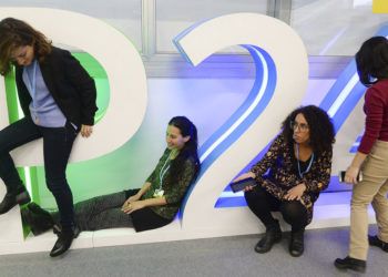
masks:
{"label": "black jacket worn over a light blue top", "polygon": [[[69,51],[52,48],[39,63],[44,83],[68,121],[80,126],[93,125],[96,91],[94,80]],[[16,66],[16,81],[21,107],[30,116],[31,95],[22,80],[23,66]]]}

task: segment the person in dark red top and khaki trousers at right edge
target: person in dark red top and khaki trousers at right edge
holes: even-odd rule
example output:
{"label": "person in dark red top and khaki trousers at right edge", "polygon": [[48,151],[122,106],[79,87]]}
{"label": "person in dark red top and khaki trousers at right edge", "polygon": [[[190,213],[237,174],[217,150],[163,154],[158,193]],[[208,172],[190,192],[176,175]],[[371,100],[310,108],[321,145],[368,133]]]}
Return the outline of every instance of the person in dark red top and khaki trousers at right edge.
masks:
{"label": "person in dark red top and khaki trousers at right edge", "polygon": [[[365,133],[358,151],[346,171],[345,182],[353,185],[350,212],[350,246],[348,256],[337,258],[339,269],[364,273],[369,245],[388,252],[388,40],[374,37],[356,53],[365,94]],[[363,171],[363,181],[357,175]],[[367,207],[371,203],[378,234],[368,237]]]}

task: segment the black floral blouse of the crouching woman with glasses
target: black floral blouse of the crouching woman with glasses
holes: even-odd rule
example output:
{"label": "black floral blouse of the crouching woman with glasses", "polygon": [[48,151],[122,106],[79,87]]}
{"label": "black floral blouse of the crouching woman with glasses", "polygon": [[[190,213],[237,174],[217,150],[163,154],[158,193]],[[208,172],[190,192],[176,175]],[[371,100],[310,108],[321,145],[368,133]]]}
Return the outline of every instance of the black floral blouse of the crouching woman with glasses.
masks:
{"label": "black floral blouse of the crouching woman with glasses", "polygon": [[293,142],[287,143],[280,134],[272,143],[264,157],[252,166],[251,172],[255,173],[256,182],[262,187],[280,201],[284,199],[288,189],[304,183],[306,191],[300,203],[307,209],[307,224],[309,224],[313,219],[314,203],[330,182],[331,156],[331,148],[319,155],[315,153],[310,170],[300,177]]}

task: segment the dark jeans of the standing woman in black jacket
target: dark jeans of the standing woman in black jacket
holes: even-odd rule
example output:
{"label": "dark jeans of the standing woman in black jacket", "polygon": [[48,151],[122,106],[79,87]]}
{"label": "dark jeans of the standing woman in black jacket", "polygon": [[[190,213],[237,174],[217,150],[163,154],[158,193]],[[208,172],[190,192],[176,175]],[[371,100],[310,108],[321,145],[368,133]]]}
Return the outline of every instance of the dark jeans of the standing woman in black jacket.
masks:
{"label": "dark jeans of the standing woman in black jacket", "polygon": [[73,195],[65,170],[78,131],[67,123],[63,127],[41,127],[24,117],[0,131],[0,177],[8,193],[19,193],[24,186],[9,152],[28,142],[43,137],[45,183],[55,197],[63,229],[74,224]]}

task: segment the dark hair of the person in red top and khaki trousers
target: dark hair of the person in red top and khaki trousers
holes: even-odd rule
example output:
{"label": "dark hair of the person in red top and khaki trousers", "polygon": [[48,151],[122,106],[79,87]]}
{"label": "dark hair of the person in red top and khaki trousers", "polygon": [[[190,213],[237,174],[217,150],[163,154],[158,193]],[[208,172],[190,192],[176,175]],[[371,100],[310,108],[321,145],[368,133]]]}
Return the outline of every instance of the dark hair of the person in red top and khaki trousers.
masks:
{"label": "dark hair of the person in red top and khaki trousers", "polygon": [[365,41],[356,53],[359,81],[370,86],[380,79],[388,78],[388,40],[374,37]]}

